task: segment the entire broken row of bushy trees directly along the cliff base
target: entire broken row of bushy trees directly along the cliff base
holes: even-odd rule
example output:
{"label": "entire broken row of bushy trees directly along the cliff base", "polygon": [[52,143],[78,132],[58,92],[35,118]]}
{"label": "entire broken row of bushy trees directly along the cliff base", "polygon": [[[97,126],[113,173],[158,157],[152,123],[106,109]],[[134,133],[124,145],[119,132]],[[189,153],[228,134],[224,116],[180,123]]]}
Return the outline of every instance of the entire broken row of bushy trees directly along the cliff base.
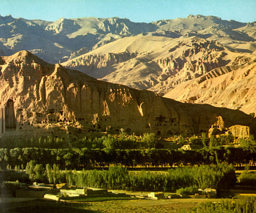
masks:
{"label": "entire broken row of bushy trees directly along the cliff base", "polygon": [[[202,136],[193,135],[190,138],[183,136],[174,136],[173,144],[191,144],[202,147],[215,147],[234,143],[235,139],[232,134],[206,137],[203,132]],[[120,132],[118,135],[103,135],[96,138],[83,136],[78,138],[77,135],[65,135],[63,138],[52,135],[40,136],[39,138],[15,138],[5,136],[0,139],[0,148],[45,148],[45,149],[65,149],[65,148],[88,148],[88,149],[148,149],[162,148],[165,139],[157,138],[154,133],[145,133],[143,135],[126,135]],[[256,148],[256,141],[253,136],[249,139],[239,139],[241,146],[245,148]]]}

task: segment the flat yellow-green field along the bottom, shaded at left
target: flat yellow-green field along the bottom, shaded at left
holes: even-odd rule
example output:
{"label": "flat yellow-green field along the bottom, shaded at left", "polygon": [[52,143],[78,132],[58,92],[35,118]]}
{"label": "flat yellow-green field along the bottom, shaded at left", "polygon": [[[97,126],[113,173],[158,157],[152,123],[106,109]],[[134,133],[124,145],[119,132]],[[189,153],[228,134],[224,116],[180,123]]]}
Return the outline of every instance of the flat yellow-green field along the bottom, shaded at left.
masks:
{"label": "flat yellow-green field along the bottom, shaded at left", "polygon": [[[55,202],[29,200],[22,202],[3,202],[1,212],[180,212],[182,209],[196,207],[200,202],[220,201],[216,199],[173,199],[173,200],[129,200],[104,202]],[[223,199],[222,199],[223,200]],[[7,201],[7,199],[5,200]],[[12,200],[15,201],[15,198]]]}

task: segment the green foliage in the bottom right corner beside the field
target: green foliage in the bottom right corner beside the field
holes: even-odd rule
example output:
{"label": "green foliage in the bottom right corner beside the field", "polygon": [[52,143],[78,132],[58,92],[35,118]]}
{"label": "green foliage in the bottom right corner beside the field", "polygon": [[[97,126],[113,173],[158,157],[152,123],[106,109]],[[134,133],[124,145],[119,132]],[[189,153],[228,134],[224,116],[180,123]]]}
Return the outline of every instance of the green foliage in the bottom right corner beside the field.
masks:
{"label": "green foliage in the bottom right corner beside the field", "polygon": [[256,198],[245,197],[239,200],[224,200],[220,202],[202,202],[189,213],[252,213],[256,212]]}

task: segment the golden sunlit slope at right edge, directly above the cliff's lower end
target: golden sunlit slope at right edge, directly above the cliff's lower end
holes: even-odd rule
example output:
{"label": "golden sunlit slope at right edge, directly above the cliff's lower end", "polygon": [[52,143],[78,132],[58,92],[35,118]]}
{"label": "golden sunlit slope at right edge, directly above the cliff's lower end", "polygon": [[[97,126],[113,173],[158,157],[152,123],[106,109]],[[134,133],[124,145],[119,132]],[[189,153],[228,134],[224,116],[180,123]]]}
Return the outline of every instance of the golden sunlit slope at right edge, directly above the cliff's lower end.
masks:
{"label": "golden sunlit slope at right edge, directly above the cliff's lower end", "polygon": [[181,83],[164,97],[256,113],[255,93],[256,60],[252,60],[244,65],[213,69],[200,78]]}

